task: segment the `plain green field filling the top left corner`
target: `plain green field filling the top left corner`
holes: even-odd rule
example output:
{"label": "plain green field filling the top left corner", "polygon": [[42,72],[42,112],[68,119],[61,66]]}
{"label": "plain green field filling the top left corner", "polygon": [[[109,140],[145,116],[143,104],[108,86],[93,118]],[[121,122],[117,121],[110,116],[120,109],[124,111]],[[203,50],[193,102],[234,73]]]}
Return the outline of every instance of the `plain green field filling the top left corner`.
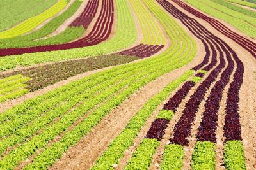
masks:
{"label": "plain green field filling the top left corner", "polygon": [[1,1],[0,31],[10,29],[13,25],[44,12],[56,2],[57,0]]}

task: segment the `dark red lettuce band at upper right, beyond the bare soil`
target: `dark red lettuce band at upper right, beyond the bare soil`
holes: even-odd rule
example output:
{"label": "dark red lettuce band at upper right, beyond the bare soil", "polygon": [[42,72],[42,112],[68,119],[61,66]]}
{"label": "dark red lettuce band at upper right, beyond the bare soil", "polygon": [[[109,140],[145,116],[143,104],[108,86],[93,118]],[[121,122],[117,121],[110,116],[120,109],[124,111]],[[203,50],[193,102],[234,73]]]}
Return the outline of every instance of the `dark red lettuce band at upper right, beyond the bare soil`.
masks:
{"label": "dark red lettuce band at upper right, beyond the bare soil", "polygon": [[212,27],[220,31],[221,34],[227,36],[228,38],[232,39],[233,41],[241,45],[245,50],[250,52],[253,55],[253,57],[256,58],[256,43],[253,43],[253,41],[250,41],[250,39],[244,38],[243,36],[237,34],[236,32],[231,31],[230,29],[228,29],[228,27],[226,27],[224,24],[221,24],[221,22],[219,22],[218,20],[211,17],[207,17],[200,11],[197,11],[191,8],[186,3],[183,3],[180,0],[173,0],[173,1],[177,3],[180,7],[184,8],[184,10],[188,11],[189,13],[195,15],[196,17],[201,18],[206,22],[208,22],[209,24],[211,24]]}

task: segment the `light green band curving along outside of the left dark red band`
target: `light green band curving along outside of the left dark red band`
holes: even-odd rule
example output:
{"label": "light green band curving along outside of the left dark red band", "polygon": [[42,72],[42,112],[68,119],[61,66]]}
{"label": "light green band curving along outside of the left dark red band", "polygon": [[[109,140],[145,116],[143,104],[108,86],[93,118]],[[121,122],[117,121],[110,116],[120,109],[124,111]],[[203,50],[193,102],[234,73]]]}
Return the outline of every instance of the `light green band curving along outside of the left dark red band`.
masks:
{"label": "light green band curving along outside of the left dark red band", "polygon": [[58,50],[52,52],[27,53],[24,55],[12,55],[0,57],[0,71],[13,69],[16,66],[32,66],[43,62],[56,62],[68,59],[77,59],[89,56],[97,56],[116,52],[127,48],[136,40],[136,26],[127,1],[117,0],[117,29],[115,36],[109,41],[99,45],[70,50]]}

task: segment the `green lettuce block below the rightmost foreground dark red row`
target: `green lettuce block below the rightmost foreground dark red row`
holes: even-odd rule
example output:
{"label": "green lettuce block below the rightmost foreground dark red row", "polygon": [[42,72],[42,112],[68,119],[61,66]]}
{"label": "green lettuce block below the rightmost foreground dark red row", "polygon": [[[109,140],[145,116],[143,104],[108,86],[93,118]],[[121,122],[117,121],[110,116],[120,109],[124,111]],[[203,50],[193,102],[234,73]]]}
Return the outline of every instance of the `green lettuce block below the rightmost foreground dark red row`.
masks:
{"label": "green lettuce block below the rightmost foreground dark red row", "polygon": [[226,169],[246,169],[242,141],[227,141],[225,143],[224,164]]}

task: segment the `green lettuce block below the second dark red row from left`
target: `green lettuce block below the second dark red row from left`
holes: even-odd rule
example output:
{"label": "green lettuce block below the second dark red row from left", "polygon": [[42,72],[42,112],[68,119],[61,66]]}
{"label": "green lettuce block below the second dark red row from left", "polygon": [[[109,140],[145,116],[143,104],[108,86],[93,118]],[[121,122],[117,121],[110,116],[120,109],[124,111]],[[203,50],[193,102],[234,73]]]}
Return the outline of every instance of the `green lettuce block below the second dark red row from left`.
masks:
{"label": "green lettuce block below the second dark red row from left", "polygon": [[164,148],[161,169],[182,169],[184,159],[184,147],[178,144],[166,145]]}

